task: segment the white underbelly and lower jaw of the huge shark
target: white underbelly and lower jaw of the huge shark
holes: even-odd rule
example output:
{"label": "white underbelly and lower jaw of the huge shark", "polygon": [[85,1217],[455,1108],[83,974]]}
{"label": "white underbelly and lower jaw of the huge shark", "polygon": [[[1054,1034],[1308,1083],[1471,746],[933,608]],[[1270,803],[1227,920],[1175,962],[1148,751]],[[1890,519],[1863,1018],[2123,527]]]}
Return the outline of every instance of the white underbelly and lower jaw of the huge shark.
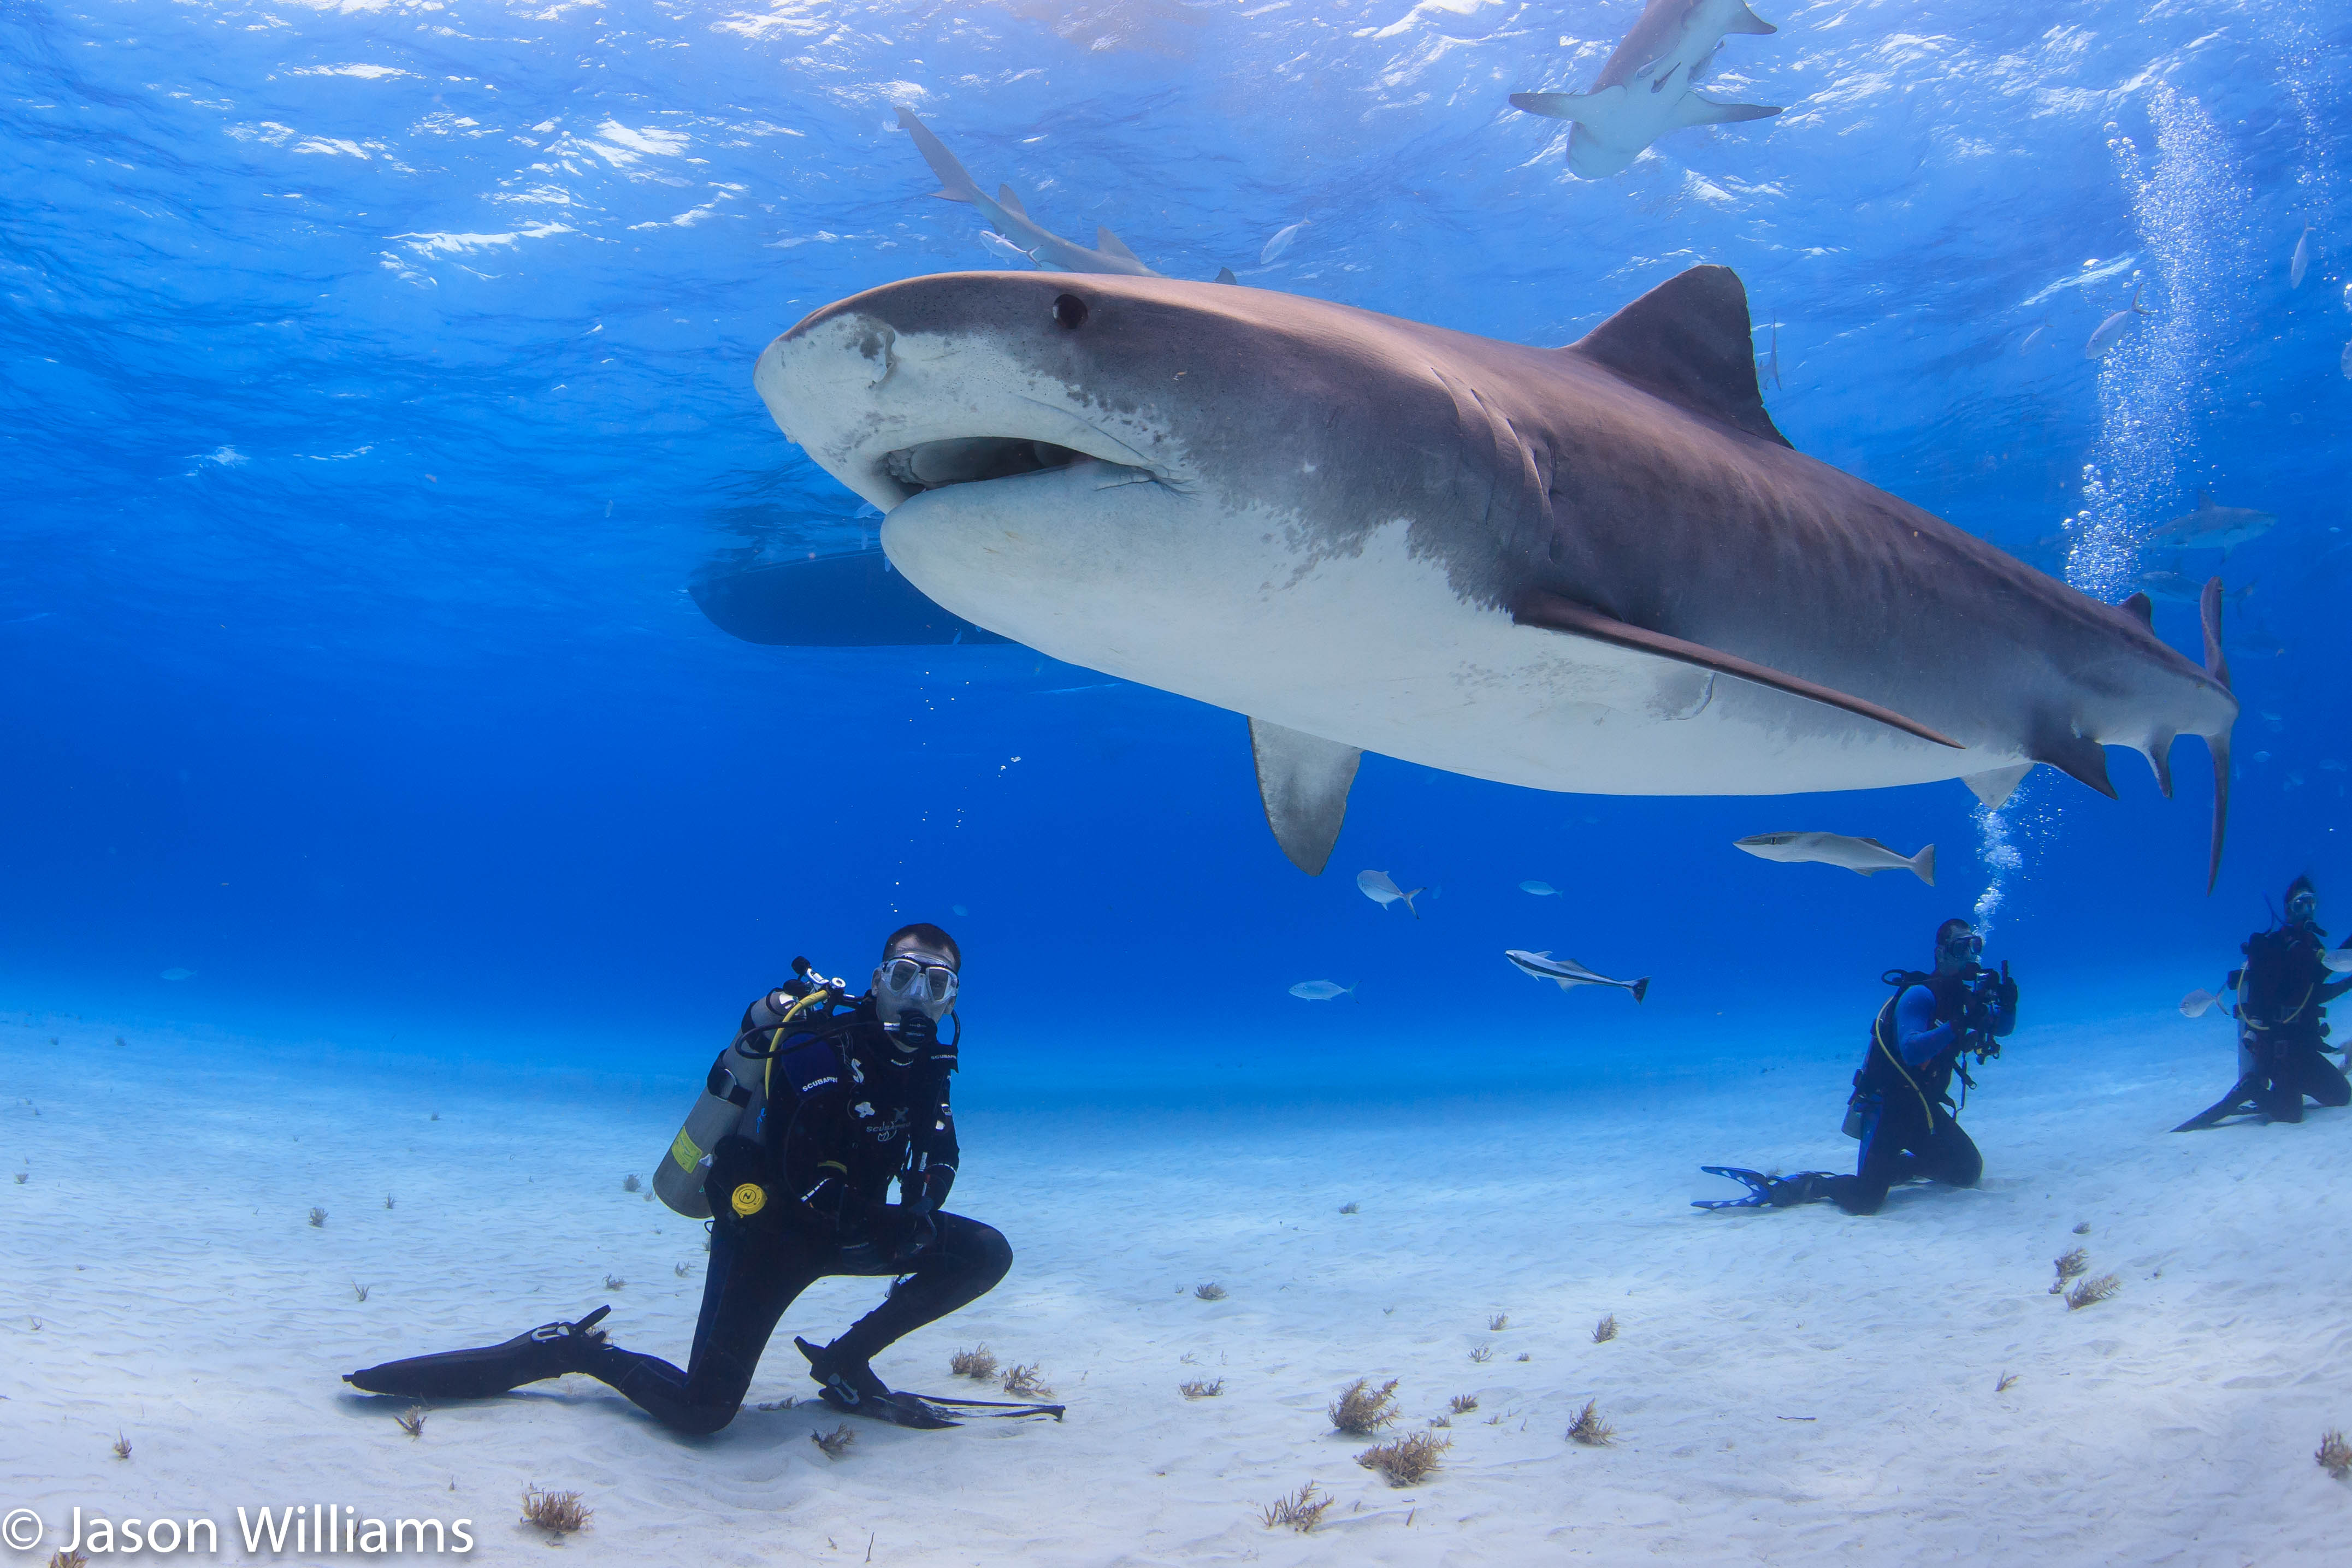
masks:
{"label": "white underbelly and lower jaw of the huge shark", "polygon": [[[1675,661],[1465,604],[1404,520],[1312,550],[1080,465],[917,496],[882,545],[941,607],[1054,658],[1404,762],[1590,795],[1785,795],[2002,766]],[[1063,489],[1068,487],[1068,489]],[[1124,487],[1122,487],[1124,489]],[[1204,541],[1218,541],[1204,548]]]}

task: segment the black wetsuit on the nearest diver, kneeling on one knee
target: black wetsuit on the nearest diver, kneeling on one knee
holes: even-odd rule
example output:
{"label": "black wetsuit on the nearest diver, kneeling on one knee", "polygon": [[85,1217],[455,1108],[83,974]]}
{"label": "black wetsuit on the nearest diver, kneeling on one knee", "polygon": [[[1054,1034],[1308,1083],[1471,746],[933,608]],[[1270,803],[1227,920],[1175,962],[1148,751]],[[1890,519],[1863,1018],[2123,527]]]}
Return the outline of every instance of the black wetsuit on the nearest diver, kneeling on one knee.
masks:
{"label": "black wetsuit on the nearest diver, kneeling on one knee", "polygon": [[[743,1030],[774,1034],[790,1001],[783,992],[753,1001]],[[666,1427],[717,1432],[734,1420],[776,1321],[828,1274],[896,1276],[889,1298],[833,1342],[863,1361],[988,1293],[1011,1267],[1002,1234],[938,1211],[955,1182],[955,1046],[891,1039],[873,997],[823,1027],[842,1023],[830,1037],[786,1032],[757,1135],[713,1150],[710,1267],[687,1368],[616,1345],[579,1368]],[[891,1180],[896,1206],[884,1201]]]}

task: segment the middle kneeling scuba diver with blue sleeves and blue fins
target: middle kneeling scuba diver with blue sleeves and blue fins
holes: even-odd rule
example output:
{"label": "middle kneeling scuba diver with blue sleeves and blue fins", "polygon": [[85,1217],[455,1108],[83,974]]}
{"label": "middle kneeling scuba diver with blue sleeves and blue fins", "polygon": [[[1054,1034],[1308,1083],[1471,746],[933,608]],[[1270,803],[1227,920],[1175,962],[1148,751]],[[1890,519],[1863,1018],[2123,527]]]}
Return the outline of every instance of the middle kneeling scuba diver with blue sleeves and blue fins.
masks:
{"label": "middle kneeling scuba diver with blue sleeves and blue fins", "polygon": [[1999,973],[1978,966],[1985,938],[1964,919],[1936,929],[1936,973],[1891,969],[1886,999],[1870,1025],[1870,1056],[1853,1074],[1846,1100],[1846,1133],[1863,1147],[1853,1175],[1799,1171],[1769,1178],[1736,1166],[1700,1166],[1748,1185],[1743,1199],[1700,1199],[1693,1208],[1792,1208],[1828,1199],[1846,1213],[1877,1213],[1886,1190],[1907,1180],[1973,1187],[1985,1157],[1959,1128],[1952,1112],[1952,1077],[1964,1088],[1976,1079],[1959,1058],[1983,1063],[2002,1053],[2002,1037],[2018,1027],[2018,983],[2009,964]]}

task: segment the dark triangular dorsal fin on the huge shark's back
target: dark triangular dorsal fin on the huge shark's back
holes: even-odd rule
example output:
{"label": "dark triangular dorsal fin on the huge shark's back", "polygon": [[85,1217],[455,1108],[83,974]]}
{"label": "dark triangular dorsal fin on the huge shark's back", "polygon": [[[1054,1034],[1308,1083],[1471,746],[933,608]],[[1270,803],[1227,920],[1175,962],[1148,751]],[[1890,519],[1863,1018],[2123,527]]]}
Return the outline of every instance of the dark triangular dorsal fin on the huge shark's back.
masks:
{"label": "dark triangular dorsal fin on the huge shark's back", "polygon": [[1757,388],[1748,289],[1726,266],[1693,266],[1661,282],[1564,353],[1583,355],[1691,414],[1788,447]]}

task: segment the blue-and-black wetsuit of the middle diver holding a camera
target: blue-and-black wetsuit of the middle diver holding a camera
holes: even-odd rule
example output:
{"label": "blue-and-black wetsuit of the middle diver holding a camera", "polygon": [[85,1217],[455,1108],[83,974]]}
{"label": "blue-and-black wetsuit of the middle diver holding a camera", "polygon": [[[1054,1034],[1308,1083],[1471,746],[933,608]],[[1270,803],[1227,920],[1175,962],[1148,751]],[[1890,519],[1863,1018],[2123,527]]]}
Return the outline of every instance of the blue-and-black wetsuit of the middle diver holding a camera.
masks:
{"label": "blue-and-black wetsuit of the middle diver holding a camera", "polygon": [[[1952,1072],[1971,1046],[1962,1027],[1973,966],[1952,976],[1910,976],[1870,1027],[1870,1056],[1856,1074],[1863,1147],[1853,1175],[1820,1182],[1820,1197],[1846,1213],[1877,1213],[1886,1190],[1907,1180],[1973,1187],[1985,1173],[1976,1140],[1952,1119]],[[1987,999],[1985,1034],[2018,1027],[2013,987]]]}

